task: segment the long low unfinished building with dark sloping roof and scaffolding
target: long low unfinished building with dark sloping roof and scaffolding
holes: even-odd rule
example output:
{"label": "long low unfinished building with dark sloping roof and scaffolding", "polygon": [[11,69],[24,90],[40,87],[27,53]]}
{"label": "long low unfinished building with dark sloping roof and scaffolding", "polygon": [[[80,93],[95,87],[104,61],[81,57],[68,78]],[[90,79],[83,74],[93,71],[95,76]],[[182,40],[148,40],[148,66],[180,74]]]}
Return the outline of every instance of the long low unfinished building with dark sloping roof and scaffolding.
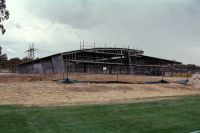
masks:
{"label": "long low unfinished building with dark sloping roof and scaffolding", "polygon": [[127,48],[91,48],[59,53],[20,64],[19,74],[61,74],[67,72],[161,75],[173,74],[177,61],[144,55]]}

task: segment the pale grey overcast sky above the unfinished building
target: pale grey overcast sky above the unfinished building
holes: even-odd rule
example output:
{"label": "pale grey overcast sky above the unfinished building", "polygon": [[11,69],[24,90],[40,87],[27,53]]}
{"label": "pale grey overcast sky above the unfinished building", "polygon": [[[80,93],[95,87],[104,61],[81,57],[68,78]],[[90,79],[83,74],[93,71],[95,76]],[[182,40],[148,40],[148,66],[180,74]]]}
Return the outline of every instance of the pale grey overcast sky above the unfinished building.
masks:
{"label": "pale grey overcast sky above the unfinished building", "polygon": [[0,35],[9,58],[31,42],[44,57],[96,47],[128,47],[146,55],[200,65],[200,0],[7,0]]}

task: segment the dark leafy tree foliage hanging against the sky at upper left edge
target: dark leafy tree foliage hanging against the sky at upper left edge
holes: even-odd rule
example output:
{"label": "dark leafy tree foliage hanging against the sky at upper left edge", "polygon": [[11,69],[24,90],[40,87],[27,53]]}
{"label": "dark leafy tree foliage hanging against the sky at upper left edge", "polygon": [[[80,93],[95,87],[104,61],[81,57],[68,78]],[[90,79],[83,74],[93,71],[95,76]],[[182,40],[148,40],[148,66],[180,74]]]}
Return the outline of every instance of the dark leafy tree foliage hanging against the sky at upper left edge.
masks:
{"label": "dark leafy tree foliage hanging against the sky at upper left edge", "polygon": [[2,34],[6,32],[3,24],[1,24],[4,20],[9,18],[9,11],[6,9],[6,0],[0,0],[0,30]]}

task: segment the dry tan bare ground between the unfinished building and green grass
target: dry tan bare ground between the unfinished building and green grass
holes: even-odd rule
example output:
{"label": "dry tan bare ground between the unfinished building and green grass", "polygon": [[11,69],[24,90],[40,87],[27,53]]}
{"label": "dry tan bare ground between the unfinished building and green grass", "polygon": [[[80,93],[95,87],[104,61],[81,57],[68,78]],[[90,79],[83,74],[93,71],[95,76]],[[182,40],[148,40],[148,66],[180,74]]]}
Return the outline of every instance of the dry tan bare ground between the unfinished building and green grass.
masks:
{"label": "dry tan bare ground between the unfinished building and green grass", "polygon": [[[63,83],[61,75],[0,75],[0,105],[62,106],[152,101],[179,96],[200,95],[200,76],[187,84],[177,83],[183,77],[165,77],[168,83],[156,83],[160,76],[108,74],[69,74],[78,81]],[[101,82],[103,81],[103,82]],[[105,81],[113,81],[105,83]]]}

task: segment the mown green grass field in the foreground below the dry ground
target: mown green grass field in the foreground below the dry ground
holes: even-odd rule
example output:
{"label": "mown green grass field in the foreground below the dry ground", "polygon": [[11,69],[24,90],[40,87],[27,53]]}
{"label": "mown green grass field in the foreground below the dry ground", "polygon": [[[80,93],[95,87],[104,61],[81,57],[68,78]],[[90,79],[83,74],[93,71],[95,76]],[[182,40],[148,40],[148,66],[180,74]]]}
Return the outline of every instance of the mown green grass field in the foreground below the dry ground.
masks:
{"label": "mown green grass field in the foreground below the dry ground", "polygon": [[1,133],[188,133],[200,130],[200,96],[133,104],[0,106]]}

